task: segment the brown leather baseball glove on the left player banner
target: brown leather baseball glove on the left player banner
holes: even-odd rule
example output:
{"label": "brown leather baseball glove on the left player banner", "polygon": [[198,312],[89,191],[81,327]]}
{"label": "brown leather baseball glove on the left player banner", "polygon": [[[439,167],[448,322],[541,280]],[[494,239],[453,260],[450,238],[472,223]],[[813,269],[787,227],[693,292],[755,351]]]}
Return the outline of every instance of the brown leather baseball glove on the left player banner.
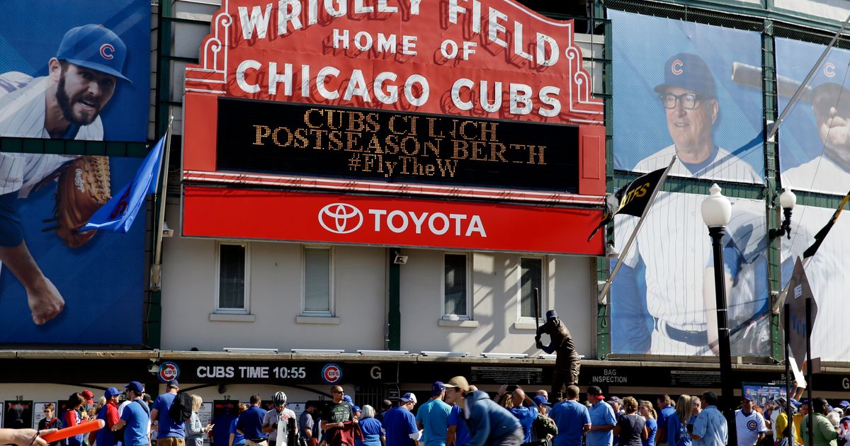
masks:
{"label": "brown leather baseball glove on the left player banner", "polygon": [[97,230],[80,232],[80,228],[112,198],[109,172],[106,156],[81,156],[59,169],[54,207],[56,224],[45,230],[55,229],[56,235],[71,248],[91,240]]}

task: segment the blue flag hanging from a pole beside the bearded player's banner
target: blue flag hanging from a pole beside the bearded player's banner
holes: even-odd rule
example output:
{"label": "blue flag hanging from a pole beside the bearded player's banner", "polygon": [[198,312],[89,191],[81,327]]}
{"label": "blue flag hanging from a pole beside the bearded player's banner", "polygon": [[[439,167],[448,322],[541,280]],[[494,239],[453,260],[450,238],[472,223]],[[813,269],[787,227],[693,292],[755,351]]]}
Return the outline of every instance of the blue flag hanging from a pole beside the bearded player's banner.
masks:
{"label": "blue flag hanging from a pole beside the bearded player's banner", "polygon": [[101,206],[97,212],[94,212],[94,215],[80,231],[104,229],[126,233],[130,230],[136,214],[139,213],[139,208],[144,203],[144,196],[156,193],[156,183],[159,179],[164,147],[165,137],[162,137],[150,150],[150,153],[144,157],[133,182],[124,186],[117,194],[112,195],[112,199]]}

